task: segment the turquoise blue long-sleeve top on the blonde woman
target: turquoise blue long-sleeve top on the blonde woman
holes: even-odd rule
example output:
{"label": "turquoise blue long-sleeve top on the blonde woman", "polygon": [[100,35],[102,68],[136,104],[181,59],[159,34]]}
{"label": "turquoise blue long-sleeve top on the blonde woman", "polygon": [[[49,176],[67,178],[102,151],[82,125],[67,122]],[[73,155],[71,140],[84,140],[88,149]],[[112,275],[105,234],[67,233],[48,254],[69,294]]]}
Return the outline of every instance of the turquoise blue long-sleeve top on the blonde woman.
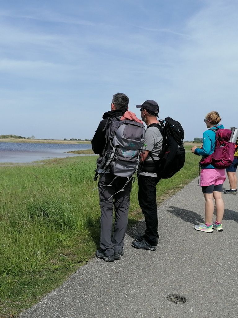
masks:
{"label": "turquoise blue long-sleeve top on the blonde woman", "polygon": [[[215,150],[215,142],[216,142],[216,133],[211,129],[224,129],[223,125],[216,125],[211,127],[210,129],[204,131],[203,133],[203,145],[202,148],[196,148],[194,153],[199,156],[209,156],[214,153]],[[215,169],[212,164],[208,164],[206,166],[202,165],[201,169]]]}

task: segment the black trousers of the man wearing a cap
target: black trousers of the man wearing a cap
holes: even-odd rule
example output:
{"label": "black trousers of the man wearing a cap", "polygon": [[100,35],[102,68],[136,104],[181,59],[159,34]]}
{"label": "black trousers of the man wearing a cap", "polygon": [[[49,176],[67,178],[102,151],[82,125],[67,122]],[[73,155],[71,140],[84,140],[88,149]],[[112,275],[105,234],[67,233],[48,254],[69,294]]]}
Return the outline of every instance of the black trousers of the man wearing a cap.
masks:
{"label": "black trousers of the man wearing a cap", "polygon": [[157,245],[158,234],[158,215],[156,204],[156,184],[160,178],[139,176],[138,177],[138,201],[145,216],[146,230],[145,241],[150,245]]}

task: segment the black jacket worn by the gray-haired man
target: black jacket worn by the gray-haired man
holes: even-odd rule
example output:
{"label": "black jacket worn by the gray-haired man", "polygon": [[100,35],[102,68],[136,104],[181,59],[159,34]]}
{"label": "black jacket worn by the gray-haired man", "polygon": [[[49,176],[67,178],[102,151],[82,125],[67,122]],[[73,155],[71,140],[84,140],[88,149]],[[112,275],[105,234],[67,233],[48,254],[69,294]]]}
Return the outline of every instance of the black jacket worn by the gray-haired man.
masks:
{"label": "black jacket worn by the gray-haired man", "polygon": [[109,112],[106,112],[103,114],[102,118],[103,120],[100,121],[97,130],[95,131],[95,135],[92,139],[92,149],[95,154],[99,154],[99,156],[102,156],[102,151],[106,145],[106,129],[102,131],[107,123],[107,120],[109,117],[118,117],[122,116],[126,110],[122,109],[116,109],[116,110],[110,110]]}

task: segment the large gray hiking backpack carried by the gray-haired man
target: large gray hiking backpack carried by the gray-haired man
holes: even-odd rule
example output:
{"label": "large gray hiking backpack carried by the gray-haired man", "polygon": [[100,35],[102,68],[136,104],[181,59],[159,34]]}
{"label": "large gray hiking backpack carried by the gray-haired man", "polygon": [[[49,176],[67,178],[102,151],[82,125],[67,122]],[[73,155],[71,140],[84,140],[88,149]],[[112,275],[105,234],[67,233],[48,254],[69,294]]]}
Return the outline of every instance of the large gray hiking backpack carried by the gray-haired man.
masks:
{"label": "large gray hiking backpack carried by the gray-haired man", "polygon": [[104,130],[106,145],[103,156],[97,160],[94,180],[96,181],[99,174],[104,173],[132,177],[138,168],[139,154],[143,149],[144,125],[136,121],[110,117]]}

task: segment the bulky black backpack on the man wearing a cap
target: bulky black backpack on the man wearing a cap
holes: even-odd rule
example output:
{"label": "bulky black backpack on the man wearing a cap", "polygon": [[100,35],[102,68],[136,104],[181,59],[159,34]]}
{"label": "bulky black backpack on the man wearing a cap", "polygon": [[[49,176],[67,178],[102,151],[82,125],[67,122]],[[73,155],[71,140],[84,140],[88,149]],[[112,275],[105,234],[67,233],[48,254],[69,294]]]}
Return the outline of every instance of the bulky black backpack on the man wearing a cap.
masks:
{"label": "bulky black backpack on the man wearing a cap", "polygon": [[155,161],[156,174],[161,179],[168,179],[175,175],[185,162],[185,149],[183,147],[184,130],[178,121],[166,117],[161,124],[151,124],[148,127],[157,127],[163,137],[162,151],[159,160]]}

